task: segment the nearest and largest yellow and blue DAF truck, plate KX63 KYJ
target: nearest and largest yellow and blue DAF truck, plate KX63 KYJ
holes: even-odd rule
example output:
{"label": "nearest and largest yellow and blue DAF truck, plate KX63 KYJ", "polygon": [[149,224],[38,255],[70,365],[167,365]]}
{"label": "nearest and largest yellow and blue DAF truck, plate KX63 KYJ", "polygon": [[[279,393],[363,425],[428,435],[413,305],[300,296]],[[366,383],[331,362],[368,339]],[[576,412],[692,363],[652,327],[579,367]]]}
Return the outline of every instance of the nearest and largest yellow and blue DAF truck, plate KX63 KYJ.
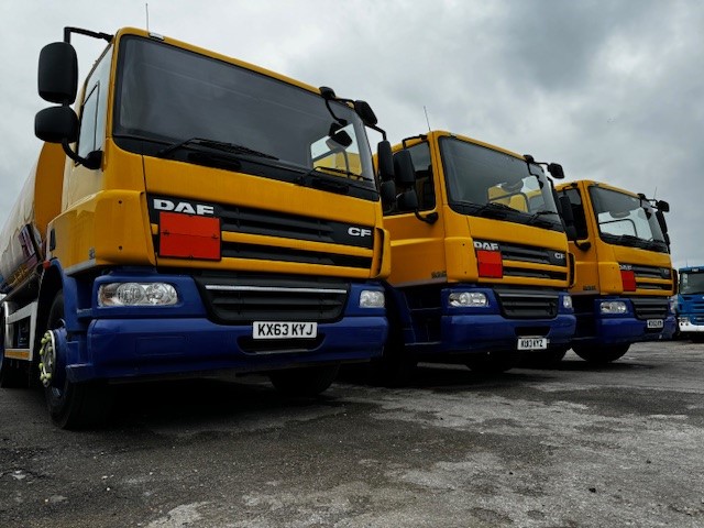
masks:
{"label": "nearest and largest yellow and blue DAF truck, plate KX63 KYJ", "polygon": [[[107,42],[80,87],[75,34]],[[67,28],[38,90],[56,106],[0,235],[0,384],[41,381],[69,428],[116,382],[228,369],[312,395],[381,355],[369,105],[136,29]]]}

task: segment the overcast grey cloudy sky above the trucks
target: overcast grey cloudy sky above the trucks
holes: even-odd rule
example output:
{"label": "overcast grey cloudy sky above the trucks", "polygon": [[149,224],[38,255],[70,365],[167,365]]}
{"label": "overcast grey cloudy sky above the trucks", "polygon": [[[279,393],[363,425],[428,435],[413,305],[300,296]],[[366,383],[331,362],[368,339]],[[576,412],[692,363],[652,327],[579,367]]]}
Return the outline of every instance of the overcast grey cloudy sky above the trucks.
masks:
{"label": "overcast grey cloudy sky above the trucks", "polygon": [[[704,1],[0,0],[0,226],[41,146],[40,50],[136,26],[364,99],[393,143],[429,123],[667,200],[673,265],[704,264]],[[82,78],[105,43],[72,42]]]}

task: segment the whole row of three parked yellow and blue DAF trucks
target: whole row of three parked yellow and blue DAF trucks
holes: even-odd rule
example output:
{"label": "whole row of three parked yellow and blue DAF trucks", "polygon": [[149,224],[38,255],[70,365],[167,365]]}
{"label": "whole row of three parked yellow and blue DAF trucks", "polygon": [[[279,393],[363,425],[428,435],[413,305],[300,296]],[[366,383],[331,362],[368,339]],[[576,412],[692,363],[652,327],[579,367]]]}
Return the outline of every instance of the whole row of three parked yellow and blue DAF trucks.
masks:
{"label": "whole row of three parked yellow and blue DAF trucks", "polygon": [[[107,47],[78,84],[72,35]],[[340,365],[499,372],[669,339],[663,201],[136,29],[67,28],[38,67],[44,145],[0,233],[0,385],[58,427],[117,383]],[[383,136],[373,154],[367,129]]]}

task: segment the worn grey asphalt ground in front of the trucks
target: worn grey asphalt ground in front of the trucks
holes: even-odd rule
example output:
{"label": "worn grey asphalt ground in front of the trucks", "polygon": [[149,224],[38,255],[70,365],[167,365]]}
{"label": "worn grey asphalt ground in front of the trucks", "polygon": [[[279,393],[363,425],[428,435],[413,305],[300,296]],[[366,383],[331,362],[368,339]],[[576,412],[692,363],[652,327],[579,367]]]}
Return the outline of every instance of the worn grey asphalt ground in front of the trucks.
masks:
{"label": "worn grey asphalt ground in front of the trucks", "polygon": [[81,432],[0,389],[0,527],[704,526],[704,344],[363,381],[302,400],[258,377],[123,387]]}

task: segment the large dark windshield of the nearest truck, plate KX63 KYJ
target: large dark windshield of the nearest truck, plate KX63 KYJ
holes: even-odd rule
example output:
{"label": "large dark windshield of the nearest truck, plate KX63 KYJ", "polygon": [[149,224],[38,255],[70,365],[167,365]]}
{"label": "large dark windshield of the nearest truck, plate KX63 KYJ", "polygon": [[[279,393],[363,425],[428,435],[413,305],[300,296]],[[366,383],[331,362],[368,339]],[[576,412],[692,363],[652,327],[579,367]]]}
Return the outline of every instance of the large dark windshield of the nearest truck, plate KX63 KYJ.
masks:
{"label": "large dark windshield of the nearest truck, plate KX63 KYJ", "polygon": [[[217,148],[220,158],[256,158],[260,176],[315,169],[374,187],[360,117],[331,101],[333,117],[318,94],[135,36],[121,41],[116,91],[113,135],[123,148],[193,163],[208,163],[200,151]],[[188,150],[199,156],[182,152]]]}

